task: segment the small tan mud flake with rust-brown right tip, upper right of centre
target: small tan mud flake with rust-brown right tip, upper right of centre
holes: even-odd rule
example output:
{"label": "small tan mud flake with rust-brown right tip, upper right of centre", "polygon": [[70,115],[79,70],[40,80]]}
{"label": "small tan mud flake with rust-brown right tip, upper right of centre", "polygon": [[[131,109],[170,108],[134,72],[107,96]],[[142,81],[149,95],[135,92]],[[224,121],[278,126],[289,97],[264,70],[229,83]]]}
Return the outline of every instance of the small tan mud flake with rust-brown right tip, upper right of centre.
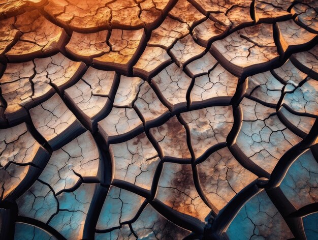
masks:
{"label": "small tan mud flake with rust-brown right tip, upper right of centre", "polygon": [[210,41],[223,36],[227,31],[228,27],[208,18],[193,29],[193,35],[200,44],[207,46]]}

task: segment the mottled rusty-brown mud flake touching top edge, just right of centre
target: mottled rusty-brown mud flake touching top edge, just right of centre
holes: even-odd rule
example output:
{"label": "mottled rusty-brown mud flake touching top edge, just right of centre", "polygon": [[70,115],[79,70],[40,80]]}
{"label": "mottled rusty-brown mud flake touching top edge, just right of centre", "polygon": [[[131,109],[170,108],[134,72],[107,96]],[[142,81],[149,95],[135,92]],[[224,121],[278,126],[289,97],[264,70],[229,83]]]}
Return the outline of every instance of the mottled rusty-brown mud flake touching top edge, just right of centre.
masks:
{"label": "mottled rusty-brown mud flake touching top edge, just right of centre", "polygon": [[199,12],[192,4],[186,0],[179,0],[171,9],[169,15],[172,18],[177,18],[179,21],[186,23],[189,27],[193,27],[205,16]]}

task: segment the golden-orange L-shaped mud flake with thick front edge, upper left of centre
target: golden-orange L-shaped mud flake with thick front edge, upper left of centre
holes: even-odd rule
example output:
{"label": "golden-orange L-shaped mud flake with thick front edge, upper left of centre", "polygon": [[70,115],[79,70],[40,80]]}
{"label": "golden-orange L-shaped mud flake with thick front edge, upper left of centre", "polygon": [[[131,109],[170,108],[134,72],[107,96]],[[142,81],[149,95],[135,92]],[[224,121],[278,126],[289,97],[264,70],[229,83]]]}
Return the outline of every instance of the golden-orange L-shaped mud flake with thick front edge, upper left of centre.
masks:
{"label": "golden-orange L-shaped mud flake with thick front edge, upper left of centre", "polygon": [[145,38],[144,30],[136,31],[112,29],[109,44],[111,51],[102,56],[93,58],[93,64],[118,68],[127,72],[140,42]]}

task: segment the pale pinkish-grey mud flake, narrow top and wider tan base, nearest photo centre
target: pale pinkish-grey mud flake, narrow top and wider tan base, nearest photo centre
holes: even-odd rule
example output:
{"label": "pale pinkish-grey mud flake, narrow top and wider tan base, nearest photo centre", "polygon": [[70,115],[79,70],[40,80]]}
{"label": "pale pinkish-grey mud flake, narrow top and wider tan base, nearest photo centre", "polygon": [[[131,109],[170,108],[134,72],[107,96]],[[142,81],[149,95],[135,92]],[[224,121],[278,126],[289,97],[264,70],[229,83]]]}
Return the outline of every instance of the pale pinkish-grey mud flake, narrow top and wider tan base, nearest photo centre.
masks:
{"label": "pale pinkish-grey mud flake, narrow top and wider tan base, nearest photo centre", "polygon": [[148,82],[144,82],[140,86],[134,108],[140,113],[146,127],[151,126],[160,121],[160,118],[165,118],[170,114],[169,109],[158,99]]}

